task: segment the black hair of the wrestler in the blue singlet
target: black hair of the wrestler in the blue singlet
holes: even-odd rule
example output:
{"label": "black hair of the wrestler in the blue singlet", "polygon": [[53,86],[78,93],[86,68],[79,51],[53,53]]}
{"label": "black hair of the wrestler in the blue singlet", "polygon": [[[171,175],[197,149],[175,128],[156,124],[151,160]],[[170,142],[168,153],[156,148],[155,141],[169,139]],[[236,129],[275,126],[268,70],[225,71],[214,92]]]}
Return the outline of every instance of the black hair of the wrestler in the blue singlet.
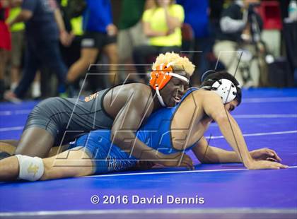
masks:
{"label": "black hair of the wrestler in the blue singlet", "polygon": [[235,85],[236,90],[237,90],[235,100],[237,100],[238,106],[239,106],[241,103],[241,98],[242,98],[241,88],[238,87],[239,83],[236,80],[236,78],[233,75],[231,75],[231,73],[228,73],[227,71],[217,71],[217,72],[214,71],[214,73],[210,73],[202,81],[200,88],[211,87],[211,85],[213,85],[216,81],[219,81],[221,79],[228,79],[228,80],[232,81],[232,83]]}

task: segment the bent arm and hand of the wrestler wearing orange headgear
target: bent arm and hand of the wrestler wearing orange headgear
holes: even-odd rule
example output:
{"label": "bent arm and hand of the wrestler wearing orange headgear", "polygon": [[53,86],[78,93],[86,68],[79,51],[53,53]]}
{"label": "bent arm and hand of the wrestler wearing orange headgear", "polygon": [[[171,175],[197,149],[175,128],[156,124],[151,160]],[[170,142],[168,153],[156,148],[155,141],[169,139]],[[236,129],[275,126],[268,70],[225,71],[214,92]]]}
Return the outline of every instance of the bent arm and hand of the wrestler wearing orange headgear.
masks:
{"label": "bent arm and hand of the wrestler wearing orange headgear", "polygon": [[[111,141],[139,160],[149,160],[165,166],[176,166],[180,161],[181,154],[178,156],[176,154],[164,155],[158,150],[146,146],[135,136],[142,122],[153,111],[153,105],[148,101],[152,101],[151,93],[146,93],[144,90],[134,92],[115,117],[111,129]],[[192,160],[183,155],[180,166],[192,168]]]}

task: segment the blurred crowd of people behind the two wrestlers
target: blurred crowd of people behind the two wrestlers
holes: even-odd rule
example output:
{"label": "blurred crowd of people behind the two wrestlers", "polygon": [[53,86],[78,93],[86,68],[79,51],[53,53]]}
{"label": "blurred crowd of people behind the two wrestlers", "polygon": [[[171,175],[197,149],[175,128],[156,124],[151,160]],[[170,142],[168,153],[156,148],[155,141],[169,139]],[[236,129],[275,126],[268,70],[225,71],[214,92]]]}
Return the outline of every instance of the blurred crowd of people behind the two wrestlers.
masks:
{"label": "blurred crowd of people behind the two wrestlers", "polygon": [[146,83],[164,52],[195,64],[195,86],[210,69],[243,88],[296,86],[297,2],[0,0],[0,101]]}

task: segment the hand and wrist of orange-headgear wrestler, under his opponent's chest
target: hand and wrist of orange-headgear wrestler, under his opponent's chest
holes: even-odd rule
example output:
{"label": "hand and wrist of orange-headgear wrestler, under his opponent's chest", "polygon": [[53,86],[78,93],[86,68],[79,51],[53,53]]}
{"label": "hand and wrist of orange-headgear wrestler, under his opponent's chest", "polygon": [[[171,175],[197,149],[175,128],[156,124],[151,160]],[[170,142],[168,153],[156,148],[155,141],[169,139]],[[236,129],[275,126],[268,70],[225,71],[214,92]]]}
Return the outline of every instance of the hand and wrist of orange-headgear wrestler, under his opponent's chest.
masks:
{"label": "hand and wrist of orange-headgear wrestler, under his opponent's chest", "polygon": [[156,162],[165,167],[187,167],[189,170],[194,170],[192,158],[185,153],[162,155],[162,158]]}

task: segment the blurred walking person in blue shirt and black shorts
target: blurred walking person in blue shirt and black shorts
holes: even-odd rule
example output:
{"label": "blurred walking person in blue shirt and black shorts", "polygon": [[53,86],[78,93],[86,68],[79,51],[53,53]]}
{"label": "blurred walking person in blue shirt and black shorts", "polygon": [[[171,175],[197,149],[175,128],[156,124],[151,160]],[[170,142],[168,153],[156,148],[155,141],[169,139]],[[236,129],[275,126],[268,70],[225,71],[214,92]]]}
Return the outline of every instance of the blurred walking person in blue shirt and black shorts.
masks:
{"label": "blurred walking person in blue shirt and black shorts", "polygon": [[83,40],[81,41],[81,57],[74,63],[67,74],[67,81],[74,83],[90,64],[95,64],[99,52],[107,54],[110,63],[109,81],[117,83],[117,28],[112,23],[109,0],[86,0],[86,11],[83,13]]}

